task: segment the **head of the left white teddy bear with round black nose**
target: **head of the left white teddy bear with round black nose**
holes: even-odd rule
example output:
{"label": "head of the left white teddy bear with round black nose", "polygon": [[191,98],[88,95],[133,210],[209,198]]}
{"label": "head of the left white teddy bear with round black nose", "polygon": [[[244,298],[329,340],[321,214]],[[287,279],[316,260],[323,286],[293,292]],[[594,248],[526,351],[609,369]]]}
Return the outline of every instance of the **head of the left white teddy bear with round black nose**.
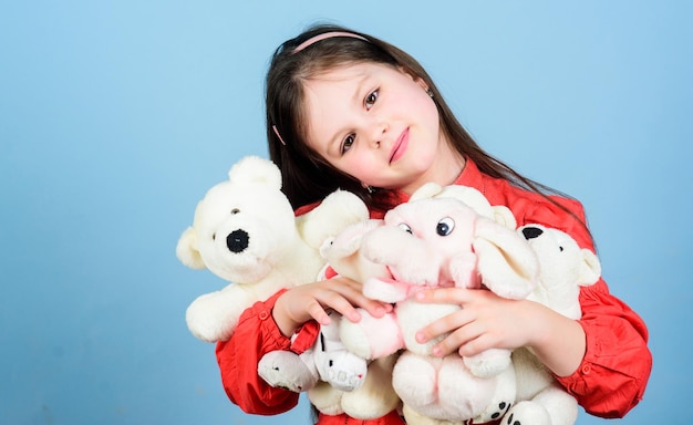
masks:
{"label": "head of the left white teddy bear with round black nose", "polygon": [[254,282],[298,237],[293,209],[280,191],[281,175],[271,162],[248,156],[228,175],[197,204],[193,226],[182,235],[176,255],[190,268],[207,268],[229,281]]}

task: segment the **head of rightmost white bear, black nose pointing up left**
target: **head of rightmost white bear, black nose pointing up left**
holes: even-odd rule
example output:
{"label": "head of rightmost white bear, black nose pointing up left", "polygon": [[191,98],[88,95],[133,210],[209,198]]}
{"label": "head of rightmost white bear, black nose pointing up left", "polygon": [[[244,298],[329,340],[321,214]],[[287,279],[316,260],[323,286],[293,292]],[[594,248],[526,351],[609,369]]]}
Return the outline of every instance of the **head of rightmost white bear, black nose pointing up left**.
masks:
{"label": "head of rightmost white bear, black nose pointing up left", "polygon": [[559,229],[530,224],[518,228],[518,232],[527,239],[539,261],[537,301],[578,319],[579,287],[593,284],[601,276],[598,257]]}

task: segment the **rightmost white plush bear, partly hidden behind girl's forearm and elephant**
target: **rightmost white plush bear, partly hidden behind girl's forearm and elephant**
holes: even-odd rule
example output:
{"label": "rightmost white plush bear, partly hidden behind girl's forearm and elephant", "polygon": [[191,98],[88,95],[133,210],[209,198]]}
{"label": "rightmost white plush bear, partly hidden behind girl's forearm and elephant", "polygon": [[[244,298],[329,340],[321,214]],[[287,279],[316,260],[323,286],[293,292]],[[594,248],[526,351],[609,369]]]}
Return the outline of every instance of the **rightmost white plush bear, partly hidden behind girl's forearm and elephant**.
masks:
{"label": "rightmost white plush bear, partly hidden behind girl's forearm and elephant", "polygon": [[[539,259],[539,284],[527,297],[571,318],[581,317],[580,287],[596,283],[601,265],[591,250],[580,248],[566,232],[540,225],[518,229]],[[517,375],[516,404],[506,418],[511,424],[570,425],[578,403],[528,349],[513,353]]]}

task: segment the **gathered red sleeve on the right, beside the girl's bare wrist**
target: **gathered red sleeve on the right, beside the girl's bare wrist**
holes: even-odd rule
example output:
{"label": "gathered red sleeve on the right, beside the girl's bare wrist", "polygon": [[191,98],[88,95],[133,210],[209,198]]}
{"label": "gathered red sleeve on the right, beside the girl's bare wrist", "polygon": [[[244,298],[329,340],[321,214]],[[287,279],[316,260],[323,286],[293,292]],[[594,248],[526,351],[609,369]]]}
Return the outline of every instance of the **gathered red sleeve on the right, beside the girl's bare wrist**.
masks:
{"label": "gathered red sleeve on the right, beside the girl's bare wrist", "polygon": [[623,417],[644,394],[652,370],[642,319],[611,296],[603,280],[580,291],[587,350],[578,370],[557,380],[586,412]]}

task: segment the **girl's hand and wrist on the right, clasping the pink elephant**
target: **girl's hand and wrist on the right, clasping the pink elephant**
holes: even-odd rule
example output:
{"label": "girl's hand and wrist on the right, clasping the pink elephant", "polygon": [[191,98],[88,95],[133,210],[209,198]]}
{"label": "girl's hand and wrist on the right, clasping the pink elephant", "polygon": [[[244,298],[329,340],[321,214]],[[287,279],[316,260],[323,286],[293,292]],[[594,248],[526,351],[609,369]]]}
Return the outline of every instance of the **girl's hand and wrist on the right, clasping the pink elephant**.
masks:
{"label": "girl's hand and wrist on the right, clasping the pink elephant", "polygon": [[462,307],[416,333],[416,340],[422,343],[449,333],[433,348],[434,355],[457,351],[459,355],[472,356],[488,349],[529,346],[559,376],[572,374],[585,356],[585,331],[579,322],[540,303],[462,288],[422,291],[416,299]]}

